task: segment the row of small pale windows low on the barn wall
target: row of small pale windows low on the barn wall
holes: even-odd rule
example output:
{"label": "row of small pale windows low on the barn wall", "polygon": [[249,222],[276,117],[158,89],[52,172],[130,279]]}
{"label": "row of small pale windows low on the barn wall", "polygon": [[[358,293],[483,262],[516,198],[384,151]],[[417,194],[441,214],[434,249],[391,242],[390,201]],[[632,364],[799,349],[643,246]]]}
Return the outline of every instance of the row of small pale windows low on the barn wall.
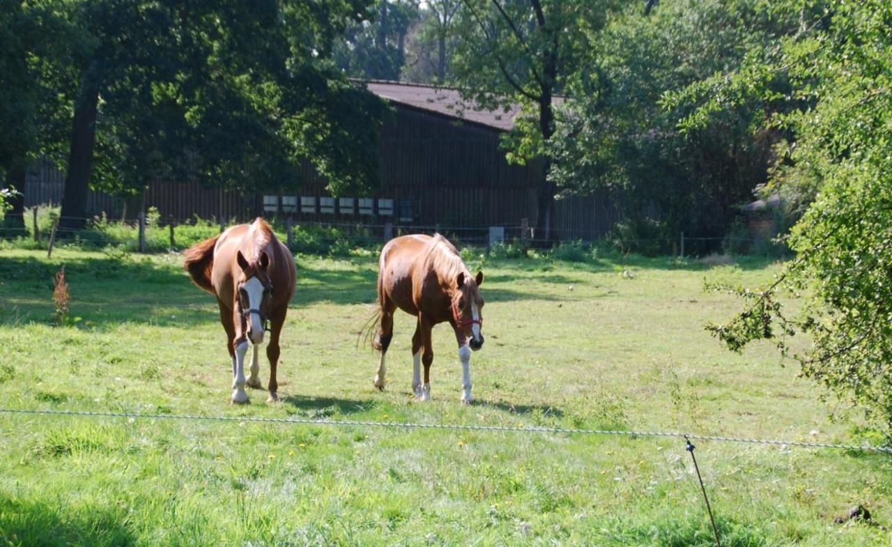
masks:
{"label": "row of small pale windows low on the barn wall", "polygon": [[[281,199],[281,205],[279,200]],[[377,202],[377,211],[376,211]],[[300,207],[299,204],[300,203]],[[335,203],[337,208],[335,209]],[[315,195],[301,195],[300,202],[296,195],[264,195],[263,211],[266,212],[297,212],[306,214],[342,214],[342,215],[375,215],[392,217],[394,204],[390,198],[374,197],[316,197]],[[414,208],[411,199],[401,200],[401,220],[411,221],[414,216]]]}

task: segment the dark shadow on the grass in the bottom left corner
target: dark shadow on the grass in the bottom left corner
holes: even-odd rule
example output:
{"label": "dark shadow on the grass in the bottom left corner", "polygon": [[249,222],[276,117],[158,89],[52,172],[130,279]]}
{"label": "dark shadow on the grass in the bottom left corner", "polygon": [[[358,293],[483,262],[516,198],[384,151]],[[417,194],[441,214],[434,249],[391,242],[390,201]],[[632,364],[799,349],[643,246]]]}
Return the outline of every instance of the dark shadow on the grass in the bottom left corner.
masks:
{"label": "dark shadow on the grass in the bottom left corner", "polygon": [[0,544],[4,545],[136,545],[121,510],[103,507],[64,509],[42,501],[0,495]]}

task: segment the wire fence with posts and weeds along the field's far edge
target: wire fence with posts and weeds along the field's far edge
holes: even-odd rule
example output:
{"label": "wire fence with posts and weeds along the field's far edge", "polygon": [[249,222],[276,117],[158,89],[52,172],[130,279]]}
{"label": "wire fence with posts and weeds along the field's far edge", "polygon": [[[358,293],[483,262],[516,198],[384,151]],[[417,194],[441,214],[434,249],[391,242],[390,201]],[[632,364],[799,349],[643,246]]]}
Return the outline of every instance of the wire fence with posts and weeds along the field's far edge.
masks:
{"label": "wire fence with posts and weeds along the field's far edge", "polygon": [[[78,244],[103,248],[122,247],[129,252],[160,253],[179,251],[192,244],[221,233],[235,224],[235,220],[202,220],[198,218],[162,218],[141,213],[136,220],[109,220],[104,215],[68,217],[46,209],[29,210],[20,222],[6,222],[0,228],[0,238],[15,240],[33,248],[45,248],[52,253],[54,244]],[[394,236],[405,234],[440,233],[461,247],[485,248],[496,245],[515,245],[528,248],[555,246],[598,245],[620,253],[649,255],[703,256],[716,250],[745,253],[764,243],[752,237],[685,236],[629,237],[611,236],[599,230],[552,228],[548,238],[527,226],[524,221],[488,225],[450,226],[439,224],[394,224],[392,222],[349,223],[301,221],[292,217],[271,220],[277,236],[296,253],[341,253],[353,247],[374,249]]]}

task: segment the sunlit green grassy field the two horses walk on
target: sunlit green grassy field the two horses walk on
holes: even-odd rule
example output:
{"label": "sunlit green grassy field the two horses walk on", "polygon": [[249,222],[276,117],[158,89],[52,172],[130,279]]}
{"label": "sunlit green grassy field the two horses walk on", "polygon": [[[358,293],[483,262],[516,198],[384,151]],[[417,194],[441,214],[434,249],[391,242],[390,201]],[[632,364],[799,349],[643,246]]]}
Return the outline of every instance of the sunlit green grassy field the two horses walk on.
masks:
{"label": "sunlit green grassy field the two horses walk on", "polygon": [[[112,253],[113,254],[113,253]],[[229,404],[213,299],[176,254],[0,252],[0,407],[689,430],[863,442],[767,345],[724,351],[702,326],[737,307],[705,279],[772,278],[759,262],[483,260],[477,402],[458,403],[449,327],[433,401],[410,396],[396,320],[389,385],[357,347],[376,259],[299,257],[284,401]],[[52,327],[64,263],[74,326]],[[266,379],[267,366],[261,366]],[[0,414],[0,544],[710,545],[680,438],[531,435]],[[892,458],[698,443],[723,545],[888,545],[832,519],[863,503],[892,526]]]}

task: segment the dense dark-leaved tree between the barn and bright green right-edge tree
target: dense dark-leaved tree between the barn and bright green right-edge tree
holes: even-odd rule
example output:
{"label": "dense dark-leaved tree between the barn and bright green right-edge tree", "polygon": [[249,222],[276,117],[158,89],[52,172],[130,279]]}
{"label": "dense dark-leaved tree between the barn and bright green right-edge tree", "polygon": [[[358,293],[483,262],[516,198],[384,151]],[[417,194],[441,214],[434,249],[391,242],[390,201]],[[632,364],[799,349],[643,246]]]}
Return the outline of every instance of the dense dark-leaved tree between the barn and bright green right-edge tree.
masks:
{"label": "dense dark-leaved tree between the barn and bright green right-edge tree", "polygon": [[552,178],[565,194],[623,195],[632,238],[724,235],[737,206],[767,178],[783,132],[761,126],[778,105],[750,97],[710,112],[696,128],[678,127],[692,107],[675,97],[797,25],[759,0],[665,1],[649,16],[640,9],[616,16],[590,37],[599,46],[567,86],[574,101],[549,147]]}

